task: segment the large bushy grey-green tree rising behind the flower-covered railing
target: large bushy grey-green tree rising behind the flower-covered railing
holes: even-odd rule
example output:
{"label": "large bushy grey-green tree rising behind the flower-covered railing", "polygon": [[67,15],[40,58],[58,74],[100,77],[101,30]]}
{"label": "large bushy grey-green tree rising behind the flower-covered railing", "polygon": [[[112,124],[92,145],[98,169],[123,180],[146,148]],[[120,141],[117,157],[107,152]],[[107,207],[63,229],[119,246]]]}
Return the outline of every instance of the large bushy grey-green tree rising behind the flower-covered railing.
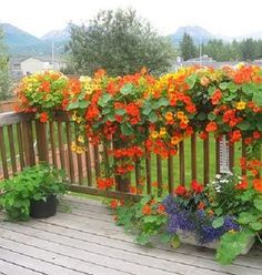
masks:
{"label": "large bushy grey-green tree rising behind the flower-covered railing", "polygon": [[89,26],[70,26],[68,52],[78,73],[92,74],[103,68],[109,75],[134,73],[145,67],[153,74],[167,72],[174,48],[134,10],[101,11]]}

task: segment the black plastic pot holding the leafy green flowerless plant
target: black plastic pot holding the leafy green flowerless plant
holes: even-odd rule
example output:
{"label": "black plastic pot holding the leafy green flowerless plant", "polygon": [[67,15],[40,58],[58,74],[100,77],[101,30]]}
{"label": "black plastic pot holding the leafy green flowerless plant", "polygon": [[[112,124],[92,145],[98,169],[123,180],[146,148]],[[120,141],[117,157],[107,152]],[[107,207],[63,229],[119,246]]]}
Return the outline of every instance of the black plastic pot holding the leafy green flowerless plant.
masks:
{"label": "black plastic pot holding the leafy green flowerless plant", "polygon": [[53,216],[57,213],[57,196],[50,195],[47,201],[31,201],[30,216],[34,218],[43,218]]}

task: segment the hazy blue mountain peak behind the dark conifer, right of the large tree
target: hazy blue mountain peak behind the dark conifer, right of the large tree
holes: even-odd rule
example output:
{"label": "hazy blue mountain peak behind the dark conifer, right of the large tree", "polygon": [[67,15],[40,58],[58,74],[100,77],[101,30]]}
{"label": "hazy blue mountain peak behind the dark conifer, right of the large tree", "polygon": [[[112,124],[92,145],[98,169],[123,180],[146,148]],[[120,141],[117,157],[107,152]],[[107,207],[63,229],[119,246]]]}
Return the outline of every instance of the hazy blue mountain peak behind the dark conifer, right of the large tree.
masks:
{"label": "hazy blue mountain peak behind the dark conifer, right of the large tree", "polygon": [[184,33],[188,33],[193,39],[194,43],[205,43],[211,39],[215,39],[214,34],[199,26],[181,27],[173,34],[170,34],[170,38],[174,44],[179,44],[182,41]]}

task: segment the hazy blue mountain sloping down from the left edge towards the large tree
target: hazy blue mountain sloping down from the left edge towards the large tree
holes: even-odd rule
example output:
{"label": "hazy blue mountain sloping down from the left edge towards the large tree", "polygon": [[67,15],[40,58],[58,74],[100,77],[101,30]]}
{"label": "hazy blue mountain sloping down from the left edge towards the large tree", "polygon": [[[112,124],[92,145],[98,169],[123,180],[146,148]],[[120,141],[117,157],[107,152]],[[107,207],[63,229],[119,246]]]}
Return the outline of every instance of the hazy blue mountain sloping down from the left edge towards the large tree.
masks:
{"label": "hazy blue mountain sloping down from the left edge towards the large tree", "polygon": [[[12,24],[0,23],[3,29],[4,43],[11,55],[51,55],[52,39],[39,39]],[[64,34],[66,35],[66,34]],[[64,37],[66,38],[66,37]],[[57,34],[54,51],[63,53],[67,40]]]}

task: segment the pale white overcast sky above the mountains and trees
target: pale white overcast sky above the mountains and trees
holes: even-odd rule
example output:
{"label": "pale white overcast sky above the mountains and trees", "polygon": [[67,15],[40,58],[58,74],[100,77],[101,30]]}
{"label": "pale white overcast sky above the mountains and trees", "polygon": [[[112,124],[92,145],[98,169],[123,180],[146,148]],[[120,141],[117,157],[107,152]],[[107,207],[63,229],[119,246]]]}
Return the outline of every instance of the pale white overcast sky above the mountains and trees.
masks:
{"label": "pale white overcast sky above the mountains and trees", "polygon": [[0,22],[41,37],[118,8],[135,9],[160,34],[182,26],[201,26],[228,37],[262,31],[262,0],[0,0]]}

